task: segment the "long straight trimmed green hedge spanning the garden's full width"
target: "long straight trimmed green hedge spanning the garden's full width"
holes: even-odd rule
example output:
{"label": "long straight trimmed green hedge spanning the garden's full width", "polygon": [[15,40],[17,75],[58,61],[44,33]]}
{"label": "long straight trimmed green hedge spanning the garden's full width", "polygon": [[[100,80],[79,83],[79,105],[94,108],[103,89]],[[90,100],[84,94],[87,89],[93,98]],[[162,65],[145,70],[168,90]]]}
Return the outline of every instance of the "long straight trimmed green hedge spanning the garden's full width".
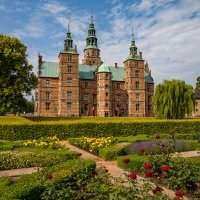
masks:
{"label": "long straight trimmed green hedge spanning the garden's full width", "polygon": [[129,136],[138,134],[176,134],[191,136],[196,139],[200,135],[200,121],[197,120],[152,120],[135,122],[79,122],[79,123],[27,123],[1,124],[0,139],[24,140],[36,139],[42,136],[56,135],[60,139],[68,137],[100,137]]}

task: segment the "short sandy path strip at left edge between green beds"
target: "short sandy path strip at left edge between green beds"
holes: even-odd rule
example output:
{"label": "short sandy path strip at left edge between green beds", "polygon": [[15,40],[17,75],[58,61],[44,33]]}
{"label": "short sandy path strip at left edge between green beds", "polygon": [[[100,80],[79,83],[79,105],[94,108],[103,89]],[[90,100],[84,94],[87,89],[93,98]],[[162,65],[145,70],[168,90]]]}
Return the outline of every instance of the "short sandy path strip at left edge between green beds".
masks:
{"label": "short sandy path strip at left edge between green beds", "polygon": [[0,171],[0,177],[3,177],[3,176],[15,177],[15,176],[21,176],[25,174],[32,174],[34,172],[37,172],[38,170],[39,170],[38,167],[2,170]]}

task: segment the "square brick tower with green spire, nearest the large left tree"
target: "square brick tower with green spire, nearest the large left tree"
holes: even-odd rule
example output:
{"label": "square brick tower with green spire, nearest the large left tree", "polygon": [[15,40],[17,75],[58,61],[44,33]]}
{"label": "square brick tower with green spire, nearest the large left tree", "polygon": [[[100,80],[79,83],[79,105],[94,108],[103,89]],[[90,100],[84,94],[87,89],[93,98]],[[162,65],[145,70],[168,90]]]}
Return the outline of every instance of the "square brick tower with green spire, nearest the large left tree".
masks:
{"label": "square brick tower with green spire, nearest the large left tree", "polygon": [[60,116],[79,116],[79,54],[73,47],[71,32],[59,54],[59,106]]}

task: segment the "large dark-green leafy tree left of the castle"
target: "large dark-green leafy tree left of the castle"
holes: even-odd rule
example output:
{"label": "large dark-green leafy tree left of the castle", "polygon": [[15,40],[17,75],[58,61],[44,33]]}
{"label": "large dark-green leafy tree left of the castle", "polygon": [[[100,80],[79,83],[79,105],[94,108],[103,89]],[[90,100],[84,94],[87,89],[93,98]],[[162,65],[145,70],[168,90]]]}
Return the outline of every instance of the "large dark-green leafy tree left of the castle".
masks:
{"label": "large dark-green leafy tree left of the castle", "polygon": [[36,87],[26,51],[19,39],[0,34],[0,112],[22,112],[24,96]]}

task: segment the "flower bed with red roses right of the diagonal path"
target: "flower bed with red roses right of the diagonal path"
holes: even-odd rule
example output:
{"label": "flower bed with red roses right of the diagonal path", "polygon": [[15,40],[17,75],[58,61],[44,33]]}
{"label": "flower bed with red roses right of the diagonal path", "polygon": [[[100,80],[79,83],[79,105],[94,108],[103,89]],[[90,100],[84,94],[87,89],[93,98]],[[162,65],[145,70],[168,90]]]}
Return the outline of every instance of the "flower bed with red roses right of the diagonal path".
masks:
{"label": "flower bed with red roses right of the diagonal path", "polygon": [[200,157],[184,159],[170,158],[167,155],[128,155],[119,157],[117,161],[118,166],[140,173],[178,193],[181,191],[189,196],[200,193]]}

